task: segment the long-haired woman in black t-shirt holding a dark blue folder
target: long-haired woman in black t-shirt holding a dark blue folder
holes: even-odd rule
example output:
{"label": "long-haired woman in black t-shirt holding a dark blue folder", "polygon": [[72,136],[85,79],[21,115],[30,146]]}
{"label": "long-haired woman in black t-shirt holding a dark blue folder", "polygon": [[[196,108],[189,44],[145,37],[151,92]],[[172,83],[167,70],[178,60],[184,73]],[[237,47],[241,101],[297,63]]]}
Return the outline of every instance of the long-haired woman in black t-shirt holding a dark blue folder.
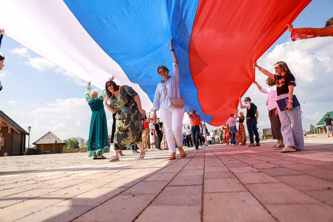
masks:
{"label": "long-haired woman in black t-shirt holding a dark blue folder", "polygon": [[[275,73],[268,72],[254,62],[254,65],[266,76],[276,80],[277,100],[286,98],[287,105],[283,111],[276,107],[275,115],[280,117],[281,134],[284,140],[285,147],[281,152],[295,152],[296,150],[304,149],[304,138],[302,129],[302,119],[300,107],[292,106],[292,98],[294,87],[296,86],[295,77],[291,74],[285,62],[277,62],[275,64]],[[291,128],[291,126],[293,128]]]}

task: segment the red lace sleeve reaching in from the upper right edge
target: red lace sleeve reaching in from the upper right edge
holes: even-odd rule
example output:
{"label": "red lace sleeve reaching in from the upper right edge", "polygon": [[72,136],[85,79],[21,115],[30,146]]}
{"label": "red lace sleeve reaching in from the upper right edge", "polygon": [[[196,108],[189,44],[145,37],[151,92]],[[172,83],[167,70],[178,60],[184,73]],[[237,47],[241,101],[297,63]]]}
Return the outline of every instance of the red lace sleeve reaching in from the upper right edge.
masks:
{"label": "red lace sleeve reaching in from the upper right edge", "polygon": [[325,28],[299,28],[292,29],[291,40],[294,42],[299,39],[308,39],[315,37],[333,36],[333,25]]}

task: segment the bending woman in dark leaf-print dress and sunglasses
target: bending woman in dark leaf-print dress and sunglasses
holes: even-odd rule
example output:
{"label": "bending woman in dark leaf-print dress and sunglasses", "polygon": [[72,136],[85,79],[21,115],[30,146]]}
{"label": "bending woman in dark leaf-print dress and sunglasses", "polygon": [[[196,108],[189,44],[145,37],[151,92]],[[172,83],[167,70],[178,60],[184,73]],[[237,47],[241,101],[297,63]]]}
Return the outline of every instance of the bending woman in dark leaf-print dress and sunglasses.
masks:
{"label": "bending woman in dark leaf-print dress and sunglasses", "polygon": [[126,150],[134,143],[140,149],[138,159],[143,159],[145,150],[142,143],[141,115],[146,116],[146,111],[141,107],[138,93],[130,86],[118,86],[112,80],[105,83],[105,89],[107,97],[104,104],[110,112],[116,113],[114,156],[109,161],[119,161],[119,150]]}

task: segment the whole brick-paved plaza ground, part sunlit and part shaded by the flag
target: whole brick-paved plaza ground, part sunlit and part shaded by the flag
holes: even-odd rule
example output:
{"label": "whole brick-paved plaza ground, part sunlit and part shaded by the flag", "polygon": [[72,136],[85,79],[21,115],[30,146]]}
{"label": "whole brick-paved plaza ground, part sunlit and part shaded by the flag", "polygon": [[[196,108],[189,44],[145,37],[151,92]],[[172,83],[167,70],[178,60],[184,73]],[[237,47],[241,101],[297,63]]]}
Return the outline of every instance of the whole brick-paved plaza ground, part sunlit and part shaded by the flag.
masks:
{"label": "whole brick-paved plaza ground, part sunlit and part shaded by the flag", "polygon": [[305,142],[1,157],[0,221],[333,221],[333,138]]}

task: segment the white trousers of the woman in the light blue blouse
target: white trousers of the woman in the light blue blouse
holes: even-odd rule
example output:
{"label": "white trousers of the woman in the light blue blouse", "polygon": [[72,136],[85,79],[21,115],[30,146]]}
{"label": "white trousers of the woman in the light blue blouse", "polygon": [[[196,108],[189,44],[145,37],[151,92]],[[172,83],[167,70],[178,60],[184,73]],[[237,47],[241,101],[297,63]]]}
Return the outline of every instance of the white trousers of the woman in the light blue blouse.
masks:
{"label": "white trousers of the woman in the light blue blouse", "polygon": [[176,152],[178,147],[183,146],[182,122],[184,118],[184,108],[174,109],[169,106],[161,109],[164,131],[166,134],[166,143],[169,147],[169,153]]}

